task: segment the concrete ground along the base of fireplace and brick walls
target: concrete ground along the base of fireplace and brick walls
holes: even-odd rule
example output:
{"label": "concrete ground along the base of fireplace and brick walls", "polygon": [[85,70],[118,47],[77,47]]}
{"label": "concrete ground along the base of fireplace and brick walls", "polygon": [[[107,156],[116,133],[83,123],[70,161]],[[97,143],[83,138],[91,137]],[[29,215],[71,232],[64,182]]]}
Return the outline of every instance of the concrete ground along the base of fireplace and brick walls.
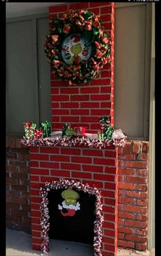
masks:
{"label": "concrete ground along the base of fireplace and brick walls", "polygon": [[[31,235],[23,231],[6,229],[6,256],[42,256],[43,253],[31,249]],[[119,250],[117,256],[155,256],[151,252],[138,252],[130,250]],[[48,256],[93,256],[93,246],[76,242],[60,240],[50,241],[50,252]]]}

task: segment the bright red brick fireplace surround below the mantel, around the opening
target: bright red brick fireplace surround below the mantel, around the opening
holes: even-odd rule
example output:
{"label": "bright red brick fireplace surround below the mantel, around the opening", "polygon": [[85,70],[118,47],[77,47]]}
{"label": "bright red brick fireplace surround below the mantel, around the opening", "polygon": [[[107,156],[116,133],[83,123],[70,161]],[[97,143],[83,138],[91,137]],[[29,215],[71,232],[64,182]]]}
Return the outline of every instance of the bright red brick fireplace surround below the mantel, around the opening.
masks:
{"label": "bright red brick fireplace surround below the mantel, around the opening", "polygon": [[[31,147],[31,225],[33,248],[40,246],[40,187],[46,181],[74,179],[98,187],[103,202],[103,255],[117,252],[118,158],[117,148]],[[38,175],[39,174],[39,175]]]}

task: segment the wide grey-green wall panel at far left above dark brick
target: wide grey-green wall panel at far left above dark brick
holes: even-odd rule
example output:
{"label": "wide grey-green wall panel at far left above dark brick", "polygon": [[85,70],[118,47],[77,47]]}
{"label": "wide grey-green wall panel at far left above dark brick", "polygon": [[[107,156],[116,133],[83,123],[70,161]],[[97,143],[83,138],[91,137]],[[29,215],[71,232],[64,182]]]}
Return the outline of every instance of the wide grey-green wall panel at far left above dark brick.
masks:
{"label": "wide grey-green wall panel at far left above dark brick", "polygon": [[23,121],[35,121],[32,21],[8,23],[6,61],[8,132],[23,132]]}

